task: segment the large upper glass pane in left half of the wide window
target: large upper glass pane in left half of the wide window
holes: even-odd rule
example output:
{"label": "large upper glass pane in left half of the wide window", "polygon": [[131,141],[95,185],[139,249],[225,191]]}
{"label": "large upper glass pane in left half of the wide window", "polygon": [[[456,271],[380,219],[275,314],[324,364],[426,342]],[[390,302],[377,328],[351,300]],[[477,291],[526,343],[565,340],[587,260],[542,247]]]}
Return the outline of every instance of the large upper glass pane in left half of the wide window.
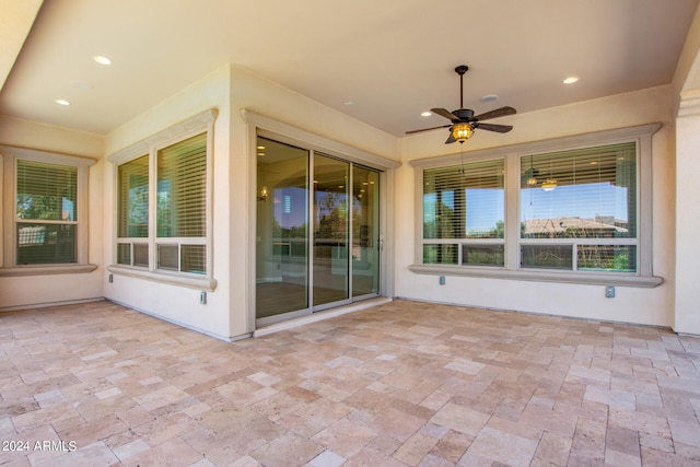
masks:
{"label": "large upper glass pane in left half of the wide window", "polygon": [[503,160],[423,172],[423,238],[503,238]]}

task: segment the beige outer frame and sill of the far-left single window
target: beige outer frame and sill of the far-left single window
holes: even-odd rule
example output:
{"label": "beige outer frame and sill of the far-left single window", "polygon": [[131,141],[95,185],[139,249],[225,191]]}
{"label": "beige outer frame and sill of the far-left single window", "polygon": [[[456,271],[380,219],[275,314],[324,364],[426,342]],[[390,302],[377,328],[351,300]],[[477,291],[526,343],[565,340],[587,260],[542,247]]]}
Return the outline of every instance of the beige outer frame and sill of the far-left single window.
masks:
{"label": "beige outer frame and sill of the far-left single window", "polygon": [[[19,161],[54,164],[77,170],[77,211],[75,219],[75,262],[60,264],[16,264],[16,175]],[[2,203],[0,218],[0,277],[2,276],[44,276],[60,273],[91,272],[97,268],[89,260],[89,176],[90,166],[97,161],[91,157],[61,154],[49,151],[0,145],[0,183],[2,184]]]}

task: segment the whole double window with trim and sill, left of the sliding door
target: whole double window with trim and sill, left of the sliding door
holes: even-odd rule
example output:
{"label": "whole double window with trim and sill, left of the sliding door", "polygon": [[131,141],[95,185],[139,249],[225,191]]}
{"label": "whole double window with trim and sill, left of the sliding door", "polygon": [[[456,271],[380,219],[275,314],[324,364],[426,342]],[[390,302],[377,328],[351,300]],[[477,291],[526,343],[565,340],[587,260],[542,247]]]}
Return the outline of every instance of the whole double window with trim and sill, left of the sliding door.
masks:
{"label": "whole double window with trim and sill, left of the sliding door", "polygon": [[209,167],[214,115],[205,113],[108,157],[117,164],[116,268],[110,271],[165,282],[167,273],[211,277]]}

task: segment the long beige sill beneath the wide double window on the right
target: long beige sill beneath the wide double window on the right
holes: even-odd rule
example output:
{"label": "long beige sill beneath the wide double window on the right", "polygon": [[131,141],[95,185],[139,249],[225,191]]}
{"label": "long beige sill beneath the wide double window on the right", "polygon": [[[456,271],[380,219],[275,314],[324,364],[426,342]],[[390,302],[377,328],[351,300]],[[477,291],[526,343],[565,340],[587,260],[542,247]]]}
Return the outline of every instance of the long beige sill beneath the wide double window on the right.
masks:
{"label": "long beige sill beneath the wide double window on the right", "polygon": [[429,276],[464,276],[483,279],[506,279],[536,282],[559,282],[592,285],[639,287],[653,289],[664,279],[656,276],[628,276],[618,273],[588,273],[568,271],[540,271],[532,269],[509,270],[497,268],[467,268],[459,266],[411,265],[409,270],[417,275]]}

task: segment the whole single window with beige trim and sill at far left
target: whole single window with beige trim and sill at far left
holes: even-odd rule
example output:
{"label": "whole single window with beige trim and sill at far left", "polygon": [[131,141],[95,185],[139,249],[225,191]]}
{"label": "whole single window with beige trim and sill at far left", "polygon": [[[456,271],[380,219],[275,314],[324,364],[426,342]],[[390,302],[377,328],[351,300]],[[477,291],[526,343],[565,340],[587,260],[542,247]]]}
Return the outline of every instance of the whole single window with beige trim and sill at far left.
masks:
{"label": "whole single window with beige trim and sill at far left", "polygon": [[5,184],[2,275],[93,270],[86,265],[85,188],[94,161],[19,148],[0,152]]}

